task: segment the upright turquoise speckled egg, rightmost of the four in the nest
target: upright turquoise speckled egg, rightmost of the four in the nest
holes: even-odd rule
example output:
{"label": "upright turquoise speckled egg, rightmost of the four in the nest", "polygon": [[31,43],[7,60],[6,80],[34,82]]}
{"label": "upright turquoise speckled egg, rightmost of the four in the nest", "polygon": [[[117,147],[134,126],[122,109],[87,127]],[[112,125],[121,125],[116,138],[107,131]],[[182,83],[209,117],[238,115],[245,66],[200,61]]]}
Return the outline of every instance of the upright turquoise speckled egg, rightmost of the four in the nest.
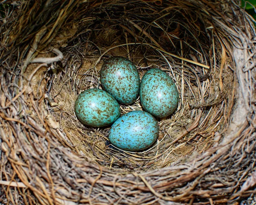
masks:
{"label": "upright turquoise speckled egg, rightmost of the four in the nest", "polygon": [[166,117],[177,108],[179,93],[172,78],[166,72],[148,70],[140,83],[140,103],[145,111],[155,117]]}

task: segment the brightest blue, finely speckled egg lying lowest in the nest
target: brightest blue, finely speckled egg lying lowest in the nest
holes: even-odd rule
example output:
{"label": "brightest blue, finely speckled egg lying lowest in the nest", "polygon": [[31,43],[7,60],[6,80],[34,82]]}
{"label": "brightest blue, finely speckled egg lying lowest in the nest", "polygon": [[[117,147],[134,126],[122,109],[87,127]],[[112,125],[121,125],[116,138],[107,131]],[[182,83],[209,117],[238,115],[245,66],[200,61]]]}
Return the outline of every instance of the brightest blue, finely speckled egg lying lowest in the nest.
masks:
{"label": "brightest blue, finely speckled egg lying lowest in the nest", "polygon": [[131,111],[113,123],[108,140],[117,148],[139,151],[148,148],[157,139],[159,126],[145,111]]}

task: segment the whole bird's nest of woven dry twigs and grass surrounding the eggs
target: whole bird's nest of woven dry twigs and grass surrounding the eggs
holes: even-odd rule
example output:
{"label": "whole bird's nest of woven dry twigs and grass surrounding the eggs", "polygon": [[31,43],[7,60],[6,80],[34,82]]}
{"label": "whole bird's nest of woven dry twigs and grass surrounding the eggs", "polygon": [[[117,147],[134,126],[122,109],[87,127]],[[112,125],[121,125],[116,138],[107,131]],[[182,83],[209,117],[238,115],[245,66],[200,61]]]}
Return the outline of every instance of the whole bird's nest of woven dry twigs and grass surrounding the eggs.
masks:
{"label": "whole bird's nest of woven dry twigs and grass surrounding the eggs", "polygon": [[[3,5],[3,6],[2,6]],[[0,203],[237,204],[253,201],[255,25],[229,0],[2,4]],[[130,59],[169,74],[180,101],[148,149],[83,125],[82,91]],[[122,114],[143,110],[140,99]]]}

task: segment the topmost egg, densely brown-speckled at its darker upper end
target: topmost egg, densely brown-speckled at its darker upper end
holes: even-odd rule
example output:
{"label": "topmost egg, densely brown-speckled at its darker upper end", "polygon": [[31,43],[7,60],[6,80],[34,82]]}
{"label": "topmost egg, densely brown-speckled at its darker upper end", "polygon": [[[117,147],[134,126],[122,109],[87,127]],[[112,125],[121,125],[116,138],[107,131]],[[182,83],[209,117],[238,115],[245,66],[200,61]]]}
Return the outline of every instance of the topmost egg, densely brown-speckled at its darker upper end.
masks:
{"label": "topmost egg, densely brown-speckled at its darker upper end", "polygon": [[111,57],[100,71],[102,88],[119,103],[134,103],[140,91],[140,76],[136,66],[124,57]]}

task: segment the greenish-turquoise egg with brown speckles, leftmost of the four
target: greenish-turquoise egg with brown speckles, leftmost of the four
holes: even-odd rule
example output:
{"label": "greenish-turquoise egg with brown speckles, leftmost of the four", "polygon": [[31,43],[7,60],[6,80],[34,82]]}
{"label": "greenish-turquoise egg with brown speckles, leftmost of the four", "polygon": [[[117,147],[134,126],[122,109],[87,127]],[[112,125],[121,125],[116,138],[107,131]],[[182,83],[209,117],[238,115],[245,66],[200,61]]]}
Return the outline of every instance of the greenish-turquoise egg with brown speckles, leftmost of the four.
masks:
{"label": "greenish-turquoise egg with brown speckles, leftmost of the four", "polygon": [[85,125],[102,127],[115,122],[121,114],[118,102],[100,89],[83,91],[76,99],[76,117]]}

